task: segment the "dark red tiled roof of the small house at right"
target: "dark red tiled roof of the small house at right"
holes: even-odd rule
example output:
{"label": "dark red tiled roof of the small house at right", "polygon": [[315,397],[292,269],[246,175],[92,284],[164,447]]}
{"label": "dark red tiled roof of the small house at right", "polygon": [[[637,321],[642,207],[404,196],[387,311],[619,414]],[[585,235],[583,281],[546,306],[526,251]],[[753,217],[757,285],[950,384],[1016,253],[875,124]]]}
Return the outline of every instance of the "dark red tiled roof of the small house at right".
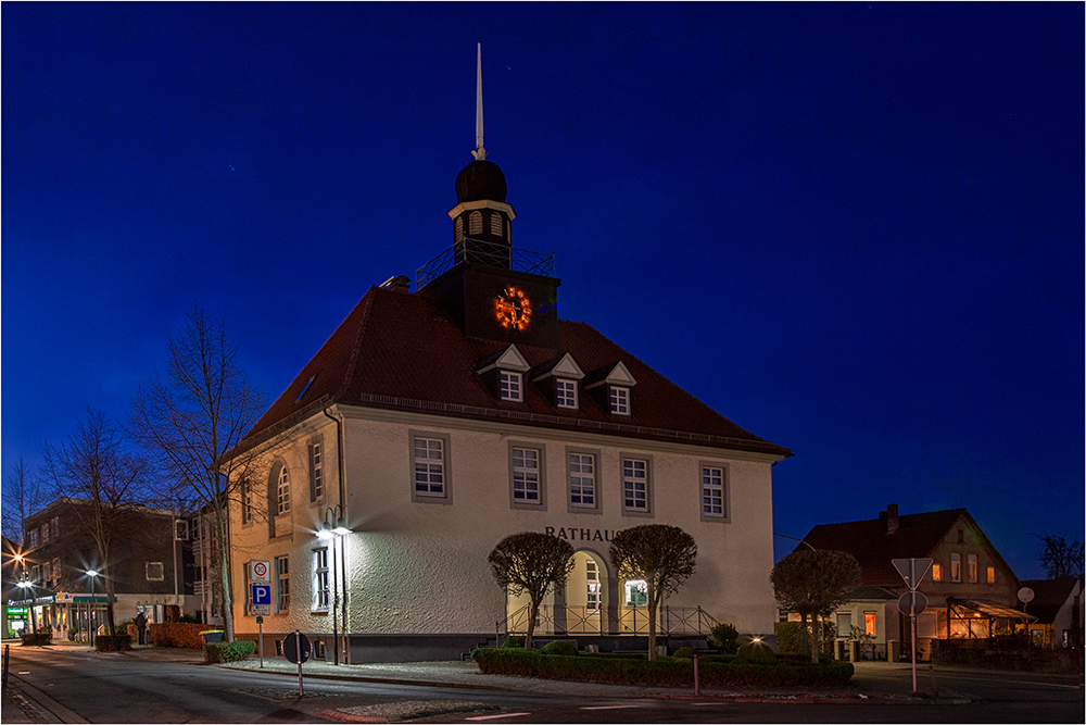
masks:
{"label": "dark red tiled roof of the small house at right", "polygon": [[847,551],[856,557],[863,586],[900,587],[904,586],[901,575],[891,560],[926,558],[962,514],[969,516],[965,509],[899,515],[897,532],[891,535],[886,534],[884,518],[821,524],[812,528],[804,541],[816,549]]}

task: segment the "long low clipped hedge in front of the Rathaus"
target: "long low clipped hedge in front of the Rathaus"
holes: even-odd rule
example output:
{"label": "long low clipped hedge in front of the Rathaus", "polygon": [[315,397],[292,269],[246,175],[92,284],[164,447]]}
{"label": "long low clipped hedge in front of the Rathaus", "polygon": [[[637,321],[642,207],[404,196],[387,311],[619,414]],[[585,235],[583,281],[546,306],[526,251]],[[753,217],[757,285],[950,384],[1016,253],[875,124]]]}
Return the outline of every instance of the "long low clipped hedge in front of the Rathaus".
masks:
{"label": "long low clipped hedge in front of the Rathaus", "polygon": [[[693,687],[693,660],[659,658],[654,662],[626,658],[563,657],[532,650],[480,648],[471,659],[484,675],[518,675],[618,685]],[[843,687],[853,665],[725,664],[699,658],[702,687]]]}

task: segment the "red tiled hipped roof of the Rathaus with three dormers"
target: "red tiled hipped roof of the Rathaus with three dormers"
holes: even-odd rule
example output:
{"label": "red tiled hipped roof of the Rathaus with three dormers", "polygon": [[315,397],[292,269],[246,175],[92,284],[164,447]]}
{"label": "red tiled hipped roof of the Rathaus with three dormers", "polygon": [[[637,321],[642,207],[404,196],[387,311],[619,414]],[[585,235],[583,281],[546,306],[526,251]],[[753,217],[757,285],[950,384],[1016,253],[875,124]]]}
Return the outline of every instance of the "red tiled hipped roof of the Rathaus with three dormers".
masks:
{"label": "red tiled hipped roof of the Rathaus with three dormers", "polygon": [[[792,454],[744,430],[579,322],[558,322],[558,354],[569,352],[585,373],[619,361],[626,364],[637,382],[631,391],[631,415],[611,415],[589,395],[581,395],[580,410],[559,409],[530,382],[525,386],[523,402],[496,400],[472,371],[481,359],[508,345],[466,337],[432,297],[374,287],[261,417],[248,439],[258,438],[327,397],[343,404]],[[545,348],[518,345],[517,349],[533,367],[556,354]]]}

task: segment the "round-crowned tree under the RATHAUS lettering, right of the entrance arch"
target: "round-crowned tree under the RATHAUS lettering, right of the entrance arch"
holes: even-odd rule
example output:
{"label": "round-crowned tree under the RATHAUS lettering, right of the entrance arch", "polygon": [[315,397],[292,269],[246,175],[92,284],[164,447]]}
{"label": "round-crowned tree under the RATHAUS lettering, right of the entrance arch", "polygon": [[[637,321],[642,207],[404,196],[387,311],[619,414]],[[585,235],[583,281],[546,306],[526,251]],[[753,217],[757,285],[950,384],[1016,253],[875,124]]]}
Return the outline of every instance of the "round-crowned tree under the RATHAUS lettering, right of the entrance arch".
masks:
{"label": "round-crowned tree under the RATHAUS lettering, right of the entrance arch", "polygon": [[656,612],[694,573],[697,543],[678,526],[634,526],[615,535],[610,560],[620,580],[644,579],[647,585],[648,659],[655,660]]}

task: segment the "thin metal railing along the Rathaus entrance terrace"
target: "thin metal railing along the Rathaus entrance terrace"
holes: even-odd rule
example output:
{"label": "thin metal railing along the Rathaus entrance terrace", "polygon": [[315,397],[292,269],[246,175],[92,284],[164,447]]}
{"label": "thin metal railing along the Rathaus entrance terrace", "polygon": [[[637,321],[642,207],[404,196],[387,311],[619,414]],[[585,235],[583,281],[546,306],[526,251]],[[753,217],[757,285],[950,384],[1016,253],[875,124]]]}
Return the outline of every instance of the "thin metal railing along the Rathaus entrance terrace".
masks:
{"label": "thin metal railing along the Rathaus entrance terrace", "polygon": [[[528,632],[530,607],[510,612],[505,620],[506,634]],[[720,623],[700,607],[661,607],[657,612],[656,634],[706,637]],[[608,611],[588,607],[540,607],[536,635],[647,635],[648,610],[631,607]]]}

